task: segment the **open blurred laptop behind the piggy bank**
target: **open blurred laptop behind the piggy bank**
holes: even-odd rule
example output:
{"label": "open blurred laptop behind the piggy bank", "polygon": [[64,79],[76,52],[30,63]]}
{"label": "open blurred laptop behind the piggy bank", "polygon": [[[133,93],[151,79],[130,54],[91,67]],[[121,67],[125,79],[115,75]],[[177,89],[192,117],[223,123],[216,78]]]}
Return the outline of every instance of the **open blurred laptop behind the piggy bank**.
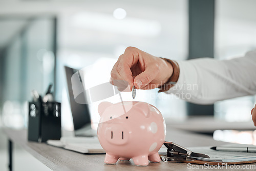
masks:
{"label": "open blurred laptop behind the piggy bank", "polygon": [[[68,95],[73,117],[75,136],[94,137],[97,136],[96,130],[92,130],[91,116],[88,104],[79,104],[75,101],[71,77],[78,70],[65,66],[66,79],[68,84]],[[85,97],[86,98],[86,97]]]}

